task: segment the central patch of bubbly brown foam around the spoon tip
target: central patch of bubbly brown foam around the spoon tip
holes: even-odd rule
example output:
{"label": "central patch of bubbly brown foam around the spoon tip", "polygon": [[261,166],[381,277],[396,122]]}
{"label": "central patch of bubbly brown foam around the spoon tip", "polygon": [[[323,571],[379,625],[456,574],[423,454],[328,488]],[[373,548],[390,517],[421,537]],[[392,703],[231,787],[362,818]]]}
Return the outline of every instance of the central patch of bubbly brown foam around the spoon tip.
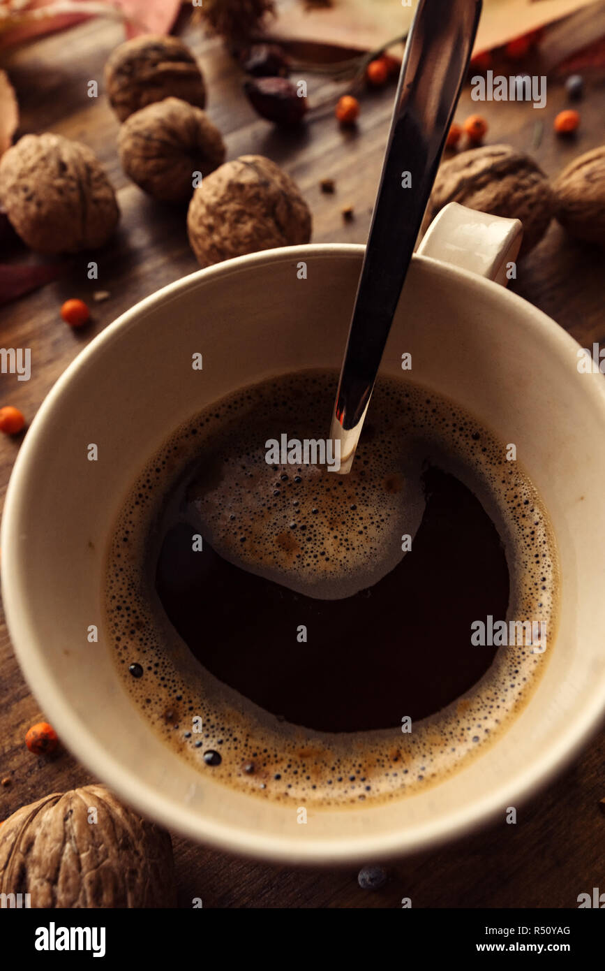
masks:
{"label": "central patch of bubbly brown foam around the spoon tip", "polygon": [[[333,600],[373,586],[403,558],[402,536],[413,540],[423,517],[420,453],[391,433],[345,476],[270,465],[266,442],[283,413],[276,417],[266,392],[207,441],[185,518],[224,559],[298,593]],[[303,441],[309,429],[296,399],[289,412],[287,433]]]}

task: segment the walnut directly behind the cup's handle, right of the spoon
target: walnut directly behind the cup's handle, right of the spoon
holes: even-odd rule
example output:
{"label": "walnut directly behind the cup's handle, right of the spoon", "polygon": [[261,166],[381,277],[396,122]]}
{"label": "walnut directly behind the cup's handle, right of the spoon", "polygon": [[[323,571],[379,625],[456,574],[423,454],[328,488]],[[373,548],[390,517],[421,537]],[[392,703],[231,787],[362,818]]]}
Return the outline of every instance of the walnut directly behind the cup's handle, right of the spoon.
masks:
{"label": "walnut directly behind the cup's handle, right of the spoon", "polygon": [[430,193],[423,229],[448,202],[492,216],[521,219],[523,256],[540,242],[553,215],[551,186],[535,162],[507,145],[462,151],[443,162]]}

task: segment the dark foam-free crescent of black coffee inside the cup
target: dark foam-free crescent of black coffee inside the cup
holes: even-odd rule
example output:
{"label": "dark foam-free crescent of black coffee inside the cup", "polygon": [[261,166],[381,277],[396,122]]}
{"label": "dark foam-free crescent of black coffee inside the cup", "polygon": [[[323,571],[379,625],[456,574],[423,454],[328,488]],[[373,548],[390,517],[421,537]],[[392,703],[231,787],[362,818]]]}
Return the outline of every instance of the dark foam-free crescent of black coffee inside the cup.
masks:
{"label": "dark foam-free crescent of black coffee inside the cup", "polygon": [[[304,469],[284,486],[292,501],[304,488],[295,476]],[[398,727],[403,714],[426,718],[492,664],[496,648],[470,644],[470,619],[506,617],[509,578],[497,530],[472,492],[436,468],[423,480],[427,509],[412,552],[374,586],[313,599],[209,544],[193,552],[195,526],[180,522],[157,564],[162,606],[208,671],[294,724],[351,732]]]}

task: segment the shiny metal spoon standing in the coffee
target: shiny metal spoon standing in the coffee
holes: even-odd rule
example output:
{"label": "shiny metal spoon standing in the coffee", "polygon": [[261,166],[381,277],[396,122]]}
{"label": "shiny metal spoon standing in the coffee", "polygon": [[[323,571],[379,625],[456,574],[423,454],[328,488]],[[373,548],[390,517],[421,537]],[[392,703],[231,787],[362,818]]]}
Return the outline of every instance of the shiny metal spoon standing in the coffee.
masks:
{"label": "shiny metal spoon standing in the coffee", "polygon": [[353,464],[460,97],[481,2],[419,0],[408,35],[330,430],[340,443],[340,473]]}

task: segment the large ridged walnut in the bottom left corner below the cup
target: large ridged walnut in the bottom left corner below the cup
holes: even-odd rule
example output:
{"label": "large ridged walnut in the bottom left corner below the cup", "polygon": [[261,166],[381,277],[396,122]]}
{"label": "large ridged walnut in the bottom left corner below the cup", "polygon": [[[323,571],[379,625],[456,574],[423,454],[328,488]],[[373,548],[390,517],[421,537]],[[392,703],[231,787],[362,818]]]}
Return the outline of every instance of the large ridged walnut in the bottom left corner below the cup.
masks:
{"label": "large ridged walnut in the bottom left corner below the cup", "polygon": [[0,892],[39,908],[175,907],[171,838],[105,786],[53,792],[0,826]]}

